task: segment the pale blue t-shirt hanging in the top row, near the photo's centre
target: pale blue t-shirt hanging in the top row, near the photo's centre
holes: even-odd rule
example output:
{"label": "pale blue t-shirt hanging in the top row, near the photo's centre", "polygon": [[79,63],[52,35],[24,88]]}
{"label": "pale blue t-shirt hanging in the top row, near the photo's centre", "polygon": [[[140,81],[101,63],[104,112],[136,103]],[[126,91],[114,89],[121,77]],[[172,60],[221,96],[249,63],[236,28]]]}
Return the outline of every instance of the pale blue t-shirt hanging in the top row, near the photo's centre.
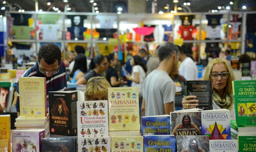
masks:
{"label": "pale blue t-shirt hanging in the top row, near the photo's centre", "polygon": [[101,16],[95,17],[100,22],[100,29],[113,29],[113,23],[116,20],[116,16]]}

